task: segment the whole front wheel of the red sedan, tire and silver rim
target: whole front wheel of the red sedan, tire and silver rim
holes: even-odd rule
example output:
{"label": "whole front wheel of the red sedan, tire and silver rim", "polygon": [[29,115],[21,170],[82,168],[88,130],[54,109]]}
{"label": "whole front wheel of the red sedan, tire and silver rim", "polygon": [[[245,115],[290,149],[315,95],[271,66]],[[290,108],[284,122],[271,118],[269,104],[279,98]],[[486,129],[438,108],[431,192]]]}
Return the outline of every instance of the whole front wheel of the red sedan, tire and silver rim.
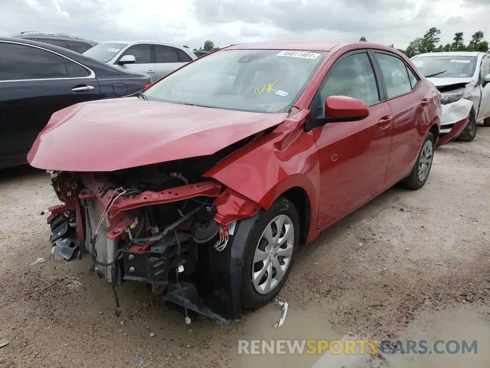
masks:
{"label": "whole front wheel of the red sedan, tire and silver rim", "polygon": [[299,240],[294,204],[279,198],[257,220],[242,266],[242,307],[259,308],[272,300],[291,271]]}

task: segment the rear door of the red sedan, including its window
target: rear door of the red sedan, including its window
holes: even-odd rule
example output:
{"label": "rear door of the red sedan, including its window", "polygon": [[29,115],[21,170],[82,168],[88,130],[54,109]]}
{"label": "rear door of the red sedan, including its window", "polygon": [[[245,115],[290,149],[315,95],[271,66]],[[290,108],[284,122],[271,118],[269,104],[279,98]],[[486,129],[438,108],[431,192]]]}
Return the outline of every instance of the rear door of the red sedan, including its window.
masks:
{"label": "rear door of the red sedan, including its window", "polygon": [[394,53],[373,50],[382,75],[388,105],[393,114],[392,150],[386,182],[388,187],[407,176],[418,157],[424,134],[430,126],[431,95],[405,61]]}

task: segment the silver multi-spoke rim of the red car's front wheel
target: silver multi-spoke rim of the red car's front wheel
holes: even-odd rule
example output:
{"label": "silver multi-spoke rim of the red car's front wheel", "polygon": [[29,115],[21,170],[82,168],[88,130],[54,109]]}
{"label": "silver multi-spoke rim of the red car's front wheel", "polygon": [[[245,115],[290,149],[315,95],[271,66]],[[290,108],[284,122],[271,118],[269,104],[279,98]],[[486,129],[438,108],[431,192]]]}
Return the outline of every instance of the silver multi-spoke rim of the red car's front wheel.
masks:
{"label": "silver multi-spoke rim of the red car's front wheel", "polygon": [[259,294],[268,294],[284,278],[294,247],[294,225],[285,214],[277,215],[266,226],[255,249],[252,285]]}

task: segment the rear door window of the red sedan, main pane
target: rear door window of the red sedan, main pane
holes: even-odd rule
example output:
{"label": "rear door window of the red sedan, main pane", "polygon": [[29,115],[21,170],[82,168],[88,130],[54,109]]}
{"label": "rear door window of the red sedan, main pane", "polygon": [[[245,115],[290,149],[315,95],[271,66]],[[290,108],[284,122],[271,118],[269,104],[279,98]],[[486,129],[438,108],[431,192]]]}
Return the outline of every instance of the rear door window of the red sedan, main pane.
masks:
{"label": "rear door window of the red sedan, main pane", "polygon": [[386,53],[375,53],[383,78],[385,79],[388,98],[403,95],[412,90],[405,62],[396,56]]}

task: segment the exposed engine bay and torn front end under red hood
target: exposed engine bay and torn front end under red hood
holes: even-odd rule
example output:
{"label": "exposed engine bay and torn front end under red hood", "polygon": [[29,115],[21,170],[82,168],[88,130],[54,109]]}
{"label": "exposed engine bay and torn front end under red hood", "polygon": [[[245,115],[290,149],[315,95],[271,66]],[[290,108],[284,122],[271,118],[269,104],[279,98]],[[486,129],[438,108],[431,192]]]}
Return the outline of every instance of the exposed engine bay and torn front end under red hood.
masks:
{"label": "exposed engine bay and torn front end under red hood", "polygon": [[260,206],[202,176],[225,156],[113,172],[49,171],[64,202],[49,209],[53,245],[76,244],[79,259],[88,253],[90,270],[111,284],[116,315],[121,313],[116,286],[140,281],[177,306],[187,324],[191,311],[220,323],[236,320],[241,312],[231,301],[231,285],[222,286],[229,276],[217,278],[230,262],[227,244],[237,219],[256,214]]}

